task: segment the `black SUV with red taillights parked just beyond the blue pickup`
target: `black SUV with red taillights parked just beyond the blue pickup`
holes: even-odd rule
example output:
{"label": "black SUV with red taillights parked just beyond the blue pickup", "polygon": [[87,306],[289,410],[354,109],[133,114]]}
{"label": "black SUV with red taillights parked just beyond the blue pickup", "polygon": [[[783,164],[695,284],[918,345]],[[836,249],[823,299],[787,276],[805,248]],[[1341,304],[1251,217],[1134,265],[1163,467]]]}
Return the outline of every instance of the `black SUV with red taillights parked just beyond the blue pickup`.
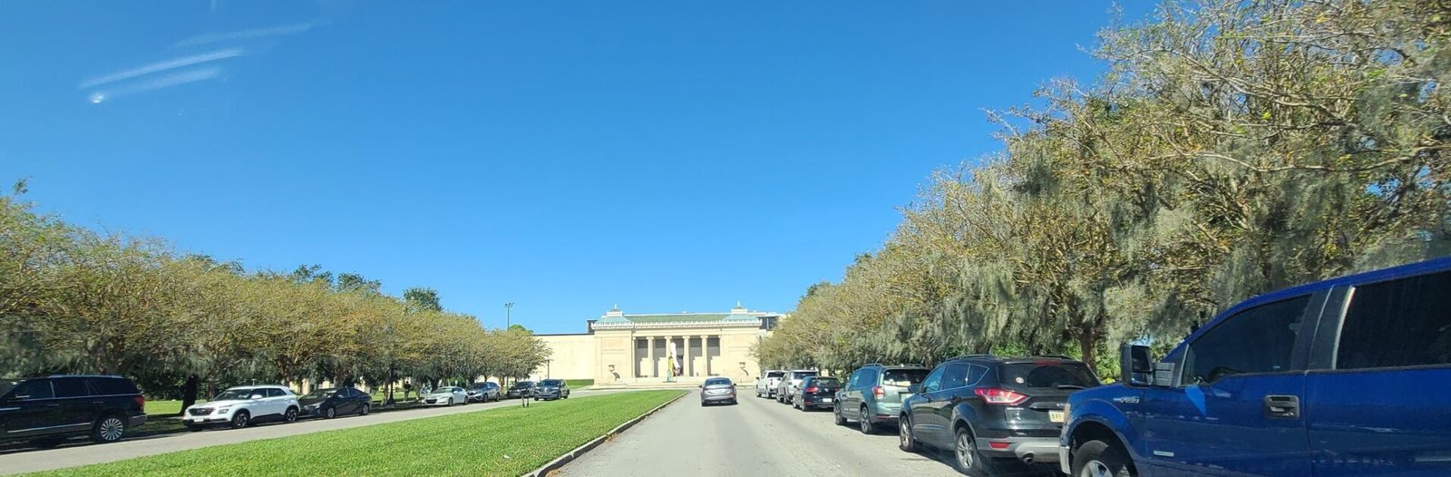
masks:
{"label": "black SUV with red taillights parked just beyond the blue pickup", "polygon": [[1093,371],[1068,357],[952,358],[903,402],[900,447],[952,449],[958,471],[969,476],[991,476],[1001,460],[1056,464],[1064,403],[1094,386]]}

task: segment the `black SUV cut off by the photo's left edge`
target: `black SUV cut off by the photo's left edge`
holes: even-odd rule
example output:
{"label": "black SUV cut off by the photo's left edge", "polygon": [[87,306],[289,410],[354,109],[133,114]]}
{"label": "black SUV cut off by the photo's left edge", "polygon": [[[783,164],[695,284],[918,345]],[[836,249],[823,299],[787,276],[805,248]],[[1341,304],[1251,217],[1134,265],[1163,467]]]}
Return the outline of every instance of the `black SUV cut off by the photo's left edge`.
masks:
{"label": "black SUV cut off by the photo's left edge", "polygon": [[55,447],[90,435],[116,442],[147,422],[145,406],[136,384],[119,376],[0,378],[0,441]]}

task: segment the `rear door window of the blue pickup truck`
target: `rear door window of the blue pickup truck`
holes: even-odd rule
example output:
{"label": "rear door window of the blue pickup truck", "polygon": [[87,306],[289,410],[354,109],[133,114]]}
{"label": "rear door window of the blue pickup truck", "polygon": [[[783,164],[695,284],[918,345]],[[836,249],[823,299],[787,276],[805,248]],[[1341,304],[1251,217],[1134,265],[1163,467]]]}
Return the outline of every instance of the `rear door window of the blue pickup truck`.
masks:
{"label": "rear door window of the blue pickup truck", "polygon": [[1335,352],[1339,370],[1451,364],[1451,273],[1355,287]]}

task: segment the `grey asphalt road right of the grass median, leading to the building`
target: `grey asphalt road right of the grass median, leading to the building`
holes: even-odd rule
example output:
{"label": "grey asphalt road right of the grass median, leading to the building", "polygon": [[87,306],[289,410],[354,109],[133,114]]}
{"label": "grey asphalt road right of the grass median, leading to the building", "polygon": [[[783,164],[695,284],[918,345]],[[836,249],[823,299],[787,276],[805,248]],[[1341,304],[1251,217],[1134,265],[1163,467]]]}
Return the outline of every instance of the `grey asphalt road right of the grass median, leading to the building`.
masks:
{"label": "grey asphalt road right of the grass median, leading to the building", "polygon": [[948,457],[907,454],[895,428],[863,435],[830,410],[800,412],[747,389],[737,406],[685,396],[560,468],[567,477],[958,476]]}

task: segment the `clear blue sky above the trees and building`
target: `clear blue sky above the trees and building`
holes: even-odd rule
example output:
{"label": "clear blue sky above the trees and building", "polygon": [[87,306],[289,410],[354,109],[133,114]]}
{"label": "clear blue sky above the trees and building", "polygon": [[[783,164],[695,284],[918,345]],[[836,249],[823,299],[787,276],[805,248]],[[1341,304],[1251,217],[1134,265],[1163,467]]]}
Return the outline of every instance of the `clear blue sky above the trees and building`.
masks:
{"label": "clear blue sky above the trees and building", "polygon": [[[1148,6],[1136,6],[1130,17]],[[981,109],[1103,68],[1104,1],[4,1],[0,181],[488,326],[785,312]]]}

